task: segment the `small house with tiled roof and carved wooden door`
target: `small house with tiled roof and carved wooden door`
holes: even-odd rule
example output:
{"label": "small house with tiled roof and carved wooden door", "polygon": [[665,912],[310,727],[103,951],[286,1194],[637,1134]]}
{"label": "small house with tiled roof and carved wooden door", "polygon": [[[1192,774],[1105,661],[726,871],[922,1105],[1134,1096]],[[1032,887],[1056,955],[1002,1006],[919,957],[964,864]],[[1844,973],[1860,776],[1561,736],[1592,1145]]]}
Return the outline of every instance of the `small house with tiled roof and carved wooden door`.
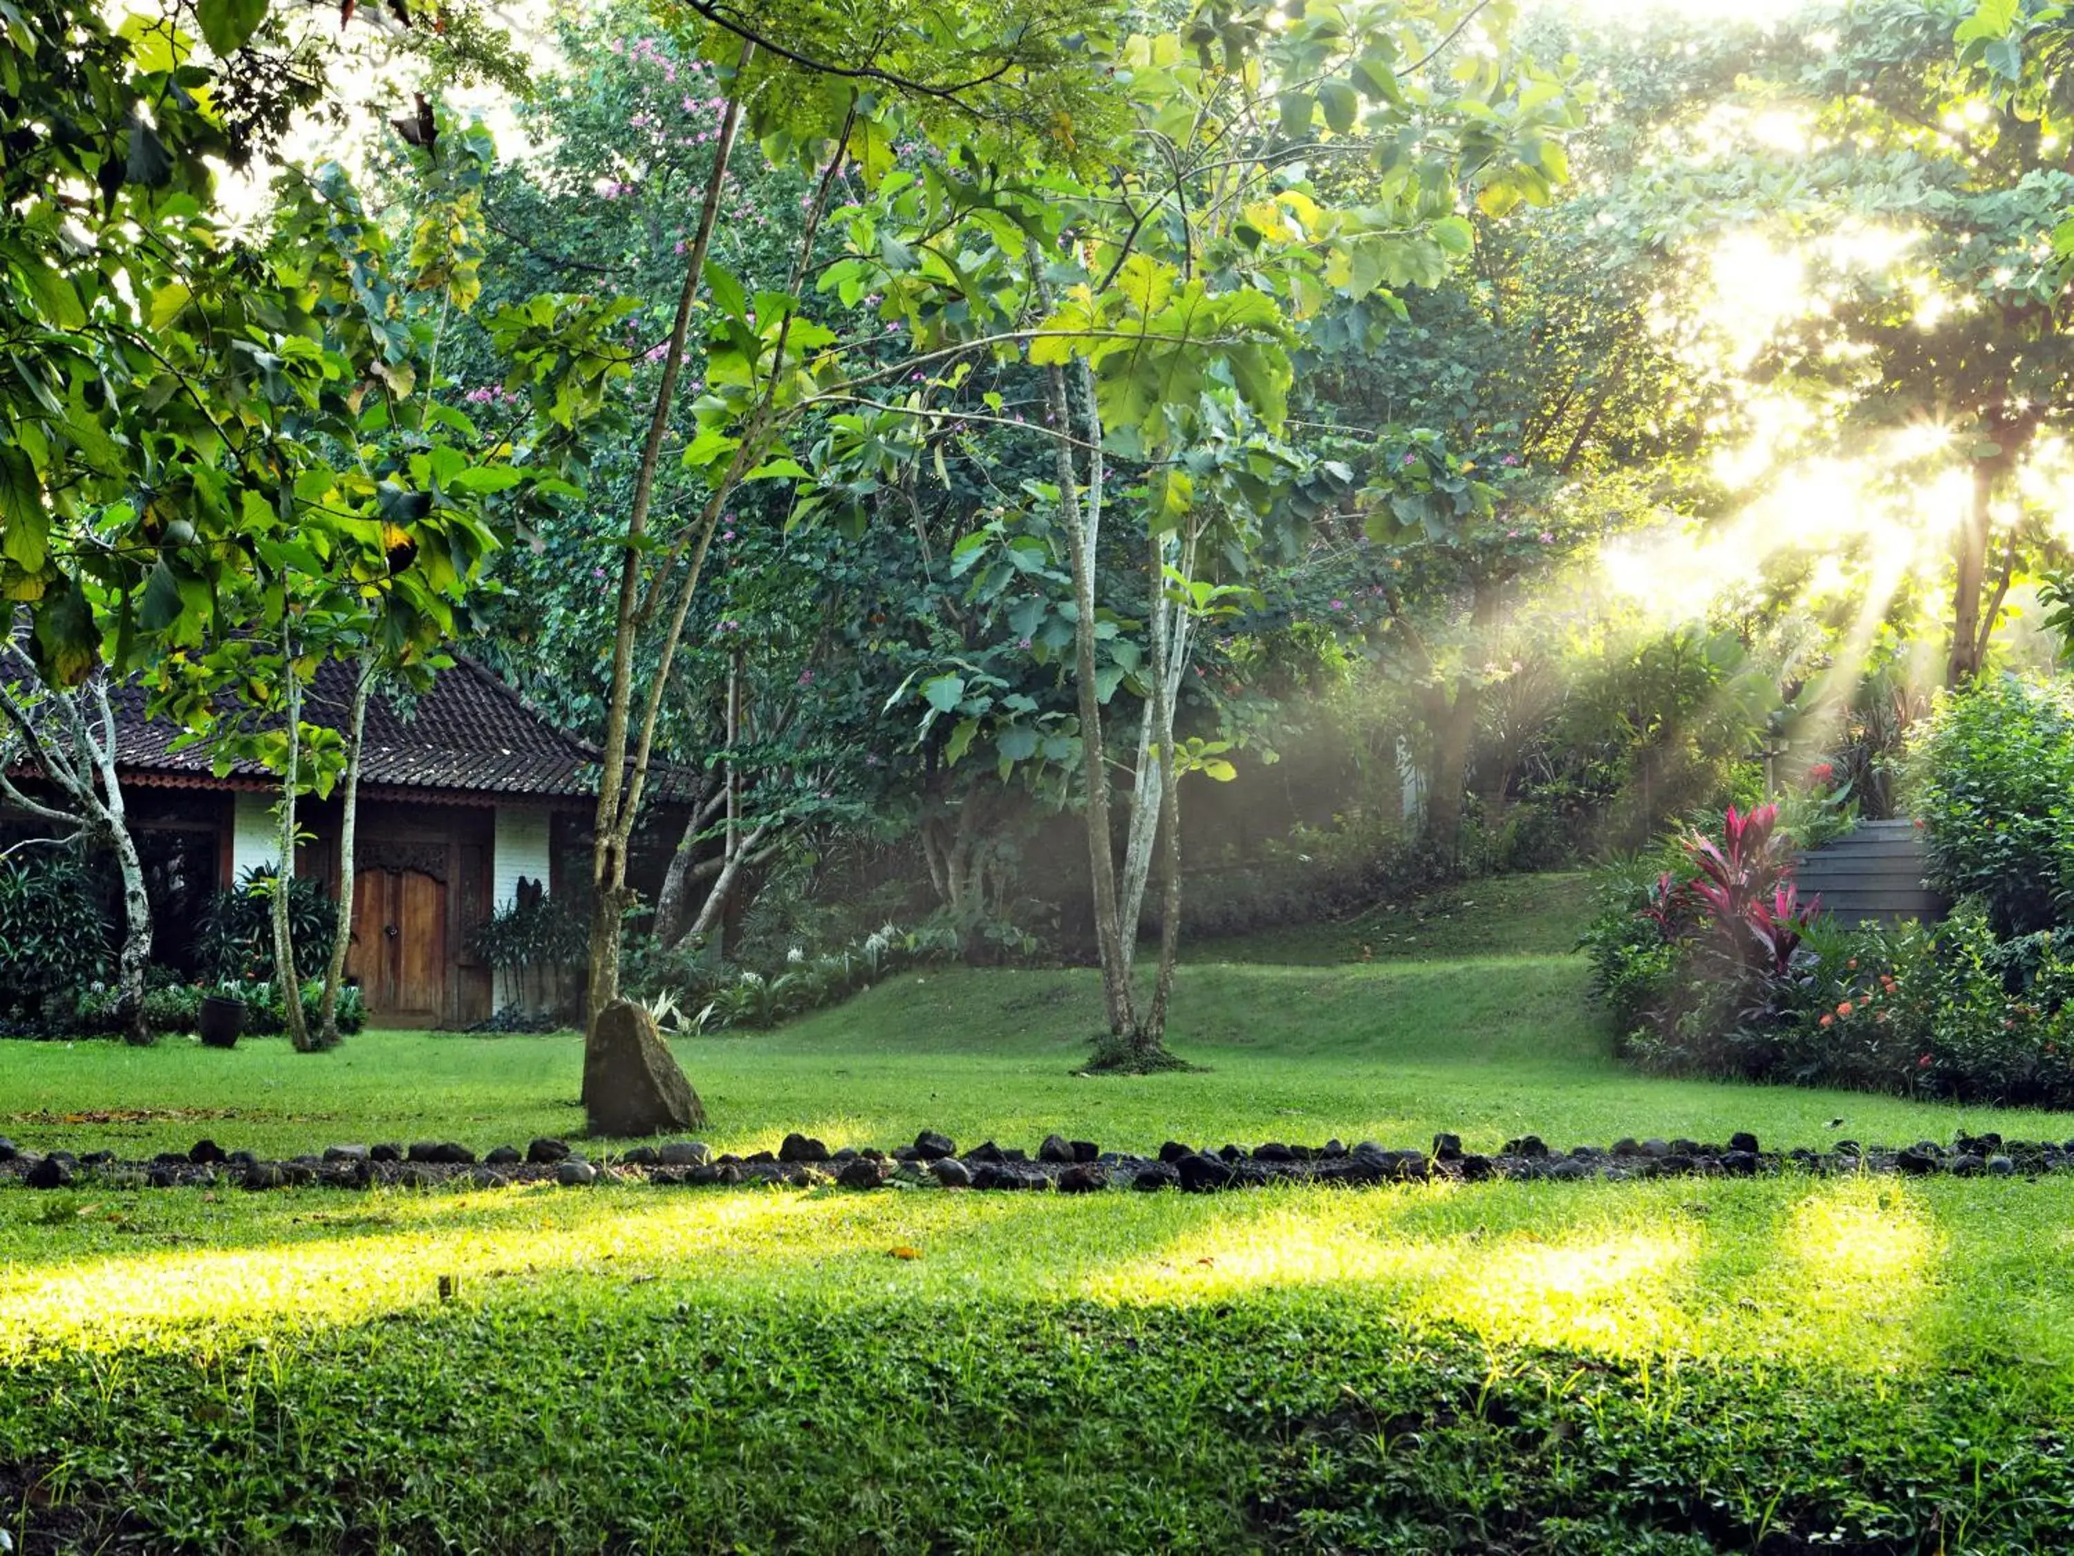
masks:
{"label": "small house with tiled roof and carved wooden door", "polygon": [[[351,675],[344,663],[317,669],[307,723],[344,727]],[[158,924],[153,961],[183,966],[207,895],[278,864],[280,781],[255,765],[218,777],[205,752],[172,750],[180,729],[145,717],[139,688],[118,688],[114,709],[116,771]],[[558,860],[583,847],[597,752],[460,655],[421,696],[371,698],[361,752],[346,976],[382,1026],[479,1021],[492,1013],[492,970],[469,937],[516,901],[521,883],[556,897],[579,885]],[[297,820],[309,837],[297,874],[336,895],[340,798],[301,800]]]}

